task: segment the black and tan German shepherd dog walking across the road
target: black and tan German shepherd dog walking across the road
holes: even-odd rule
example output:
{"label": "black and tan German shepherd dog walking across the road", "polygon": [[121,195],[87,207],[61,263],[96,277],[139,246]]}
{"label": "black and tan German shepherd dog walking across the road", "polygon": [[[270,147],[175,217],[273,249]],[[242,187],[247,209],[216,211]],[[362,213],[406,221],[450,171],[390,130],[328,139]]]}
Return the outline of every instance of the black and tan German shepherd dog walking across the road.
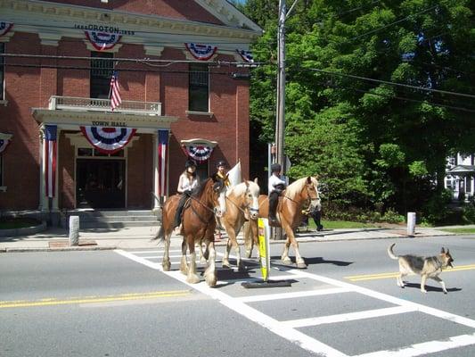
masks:
{"label": "black and tan German shepherd dog walking across the road", "polygon": [[404,287],[403,278],[406,275],[415,275],[419,274],[422,277],[421,280],[421,291],[422,293],[427,293],[425,289],[425,282],[427,278],[434,279],[440,283],[444,294],[447,294],[446,284],[441,278],[438,278],[438,275],[446,267],[454,268],[452,262],[454,259],[450,255],[448,249],[445,250],[442,248],[440,254],[431,257],[422,257],[413,254],[407,255],[396,255],[392,248],[395,244],[389,245],[388,254],[389,258],[399,261],[399,276],[397,277],[397,286]]}

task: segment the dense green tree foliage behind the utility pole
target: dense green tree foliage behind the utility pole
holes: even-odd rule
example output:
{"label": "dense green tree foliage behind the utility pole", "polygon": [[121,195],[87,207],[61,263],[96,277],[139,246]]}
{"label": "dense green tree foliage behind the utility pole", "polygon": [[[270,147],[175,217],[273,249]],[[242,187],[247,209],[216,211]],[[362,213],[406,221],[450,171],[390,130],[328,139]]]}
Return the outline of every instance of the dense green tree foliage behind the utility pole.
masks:
{"label": "dense green tree foliage behind the utility pole", "polygon": [[[443,219],[446,156],[475,142],[471,112],[457,108],[475,104],[414,87],[475,95],[472,9],[470,0],[299,1],[286,21],[288,175],[318,174],[331,203]],[[265,29],[250,83],[259,171],[274,141],[278,2],[248,0],[243,11]]]}

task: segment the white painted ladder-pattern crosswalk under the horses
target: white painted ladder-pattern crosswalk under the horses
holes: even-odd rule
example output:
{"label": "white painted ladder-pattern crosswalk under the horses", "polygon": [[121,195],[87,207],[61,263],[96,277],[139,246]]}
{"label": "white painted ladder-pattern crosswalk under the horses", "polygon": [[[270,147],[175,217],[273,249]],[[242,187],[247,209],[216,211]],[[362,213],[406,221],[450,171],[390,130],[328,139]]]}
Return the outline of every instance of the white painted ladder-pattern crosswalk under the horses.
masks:
{"label": "white painted ladder-pattern crosswalk under the horses", "polygon": [[[449,349],[460,348],[463,346],[475,345],[475,320],[467,319],[463,316],[455,315],[447,311],[441,311],[431,308],[429,306],[422,305],[420,303],[414,303],[411,301],[399,299],[392,295],[386,295],[363,286],[356,286],[344,281],[340,281],[334,278],[328,278],[321,275],[313,274],[304,270],[295,269],[283,269],[279,266],[273,267],[273,280],[292,280],[296,282],[305,282],[306,288],[302,288],[299,284],[295,284],[298,290],[294,291],[295,287],[291,287],[290,290],[285,292],[275,292],[275,289],[271,289],[267,294],[260,294],[259,291],[249,291],[240,289],[239,294],[237,290],[224,288],[210,288],[203,281],[199,284],[188,284],[185,281],[185,276],[177,270],[177,265],[181,258],[180,251],[170,251],[170,259],[172,260],[172,270],[163,271],[161,268],[161,256],[163,252],[156,251],[134,251],[127,252],[123,250],[116,250],[116,253],[127,257],[135,262],[141,263],[151,269],[160,270],[164,274],[167,274],[171,278],[176,278],[182,283],[191,286],[196,291],[201,292],[204,295],[217,300],[227,308],[241,314],[247,319],[258,323],[263,328],[267,328],[274,334],[285,338],[293,344],[299,345],[302,349],[307,350],[310,353],[317,353],[324,356],[332,357],[349,357],[350,355],[343,353],[338,348],[332,345],[325,344],[319,341],[315,336],[307,331],[308,327],[317,326],[331,326],[333,324],[342,324],[348,321],[358,320],[370,320],[378,319],[388,316],[397,316],[402,314],[411,313],[423,313],[432,318],[442,319],[450,321],[451,324],[458,324],[469,330],[470,333],[449,336],[444,339],[438,339],[433,341],[426,341],[414,345],[403,345],[398,349],[388,349],[381,351],[373,351],[370,353],[356,354],[352,356],[357,357],[406,357],[406,356],[420,356],[428,353],[437,353],[446,351]],[[257,268],[256,261],[248,260],[250,264],[254,264]],[[174,266],[174,264],[176,264]],[[218,278],[220,275],[218,272]],[[226,276],[232,276],[233,274],[225,274]],[[258,277],[238,277],[238,278],[226,278],[225,280],[218,280],[217,286],[236,286],[240,282],[258,281]],[[310,287],[309,287],[310,286]],[[244,293],[242,293],[242,291]],[[253,289],[254,290],[254,289]],[[346,313],[337,313],[323,316],[310,316],[304,319],[292,319],[292,320],[278,320],[275,317],[269,316],[268,313],[259,310],[257,303],[274,302],[283,299],[304,299],[308,297],[325,296],[325,295],[346,295],[357,294],[377,299],[382,303],[388,304],[389,307],[370,309],[364,311],[349,311]],[[315,311],[308,311],[308,315],[315,313]],[[474,350],[475,351],[475,350]]]}

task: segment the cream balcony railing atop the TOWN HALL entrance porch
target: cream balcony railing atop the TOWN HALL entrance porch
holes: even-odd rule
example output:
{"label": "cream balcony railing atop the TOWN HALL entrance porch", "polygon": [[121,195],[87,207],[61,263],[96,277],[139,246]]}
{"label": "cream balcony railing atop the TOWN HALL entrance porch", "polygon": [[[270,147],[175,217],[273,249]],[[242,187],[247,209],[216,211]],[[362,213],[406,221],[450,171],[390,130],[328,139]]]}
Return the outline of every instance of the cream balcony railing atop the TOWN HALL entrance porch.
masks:
{"label": "cream balcony railing atop the TOWN HALL entrance porch", "polygon": [[[52,95],[49,101],[51,110],[112,112],[111,100],[100,98],[82,98],[78,96]],[[141,115],[161,115],[161,103],[122,101],[113,112]]]}

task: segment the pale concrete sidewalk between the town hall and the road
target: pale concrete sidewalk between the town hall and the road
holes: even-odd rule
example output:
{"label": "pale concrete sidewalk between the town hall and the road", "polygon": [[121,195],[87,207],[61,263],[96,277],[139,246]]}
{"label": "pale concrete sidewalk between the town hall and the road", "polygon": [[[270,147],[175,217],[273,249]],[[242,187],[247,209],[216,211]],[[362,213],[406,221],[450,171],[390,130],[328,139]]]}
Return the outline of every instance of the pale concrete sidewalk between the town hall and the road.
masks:
{"label": "pale concrete sidewalk between the town hall and the road", "polygon": [[[468,227],[468,226],[464,226]],[[79,231],[79,245],[70,246],[69,231],[64,228],[47,228],[45,231],[17,237],[0,237],[0,253],[45,252],[45,251],[85,251],[107,249],[157,249],[163,246],[155,237],[157,227],[84,229]],[[439,228],[415,228],[415,237],[452,236],[453,233]],[[325,229],[321,232],[302,232],[296,234],[299,242],[326,242],[357,239],[381,239],[408,237],[404,226],[394,228]],[[238,236],[242,244],[242,235]],[[216,242],[225,245],[227,238]],[[171,245],[181,247],[182,237],[172,236]],[[283,241],[271,240],[271,244]]]}

